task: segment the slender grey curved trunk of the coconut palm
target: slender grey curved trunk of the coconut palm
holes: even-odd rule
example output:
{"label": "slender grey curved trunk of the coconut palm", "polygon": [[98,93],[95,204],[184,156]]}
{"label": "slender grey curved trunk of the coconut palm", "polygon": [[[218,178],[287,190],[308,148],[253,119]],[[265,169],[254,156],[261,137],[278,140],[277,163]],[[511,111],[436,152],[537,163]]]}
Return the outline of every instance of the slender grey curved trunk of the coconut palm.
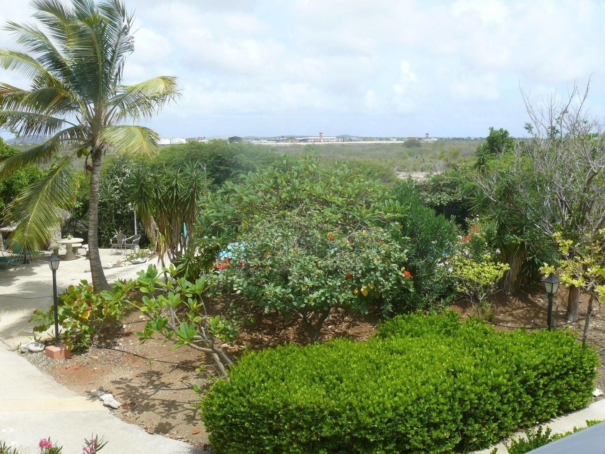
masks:
{"label": "slender grey curved trunk of the coconut palm", "polygon": [[88,254],[93,287],[97,292],[109,290],[99,255],[99,181],[103,153],[97,149],[93,153],[93,170],[90,173],[90,195],[88,202]]}

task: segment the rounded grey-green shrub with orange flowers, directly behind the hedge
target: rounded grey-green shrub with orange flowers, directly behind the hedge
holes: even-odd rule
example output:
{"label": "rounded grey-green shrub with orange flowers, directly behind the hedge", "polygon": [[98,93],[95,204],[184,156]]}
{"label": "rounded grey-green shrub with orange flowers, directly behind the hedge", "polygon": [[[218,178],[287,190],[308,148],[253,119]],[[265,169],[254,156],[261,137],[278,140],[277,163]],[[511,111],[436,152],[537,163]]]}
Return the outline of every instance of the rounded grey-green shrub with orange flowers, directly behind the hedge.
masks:
{"label": "rounded grey-green shrub with orange flowers, directly behind the hedge", "polygon": [[413,290],[404,249],[381,228],[335,228],[308,214],[255,217],[231,252],[215,266],[221,285],[298,318],[311,341],[331,308],[387,310]]}

